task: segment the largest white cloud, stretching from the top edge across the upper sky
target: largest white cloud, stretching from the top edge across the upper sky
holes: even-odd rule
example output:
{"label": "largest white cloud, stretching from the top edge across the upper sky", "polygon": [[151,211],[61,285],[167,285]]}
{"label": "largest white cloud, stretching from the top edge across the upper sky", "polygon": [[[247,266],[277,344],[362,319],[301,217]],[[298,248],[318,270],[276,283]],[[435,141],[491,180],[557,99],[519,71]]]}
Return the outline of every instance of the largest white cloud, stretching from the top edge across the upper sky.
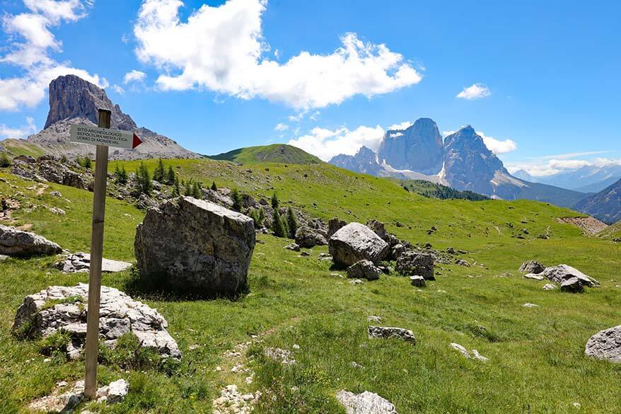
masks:
{"label": "largest white cloud, stretching from the top edge across the upper sky", "polygon": [[267,0],[207,4],[182,22],[180,0],[145,0],[134,35],[137,57],[161,71],[163,90],[208,88],[242,99],[264,98],[294,108],[323,108],[356,95],[372,97],[422,80],[405,58],[385,45],[343,35],[330,54],[300,52],[284,64],[263,56]]}

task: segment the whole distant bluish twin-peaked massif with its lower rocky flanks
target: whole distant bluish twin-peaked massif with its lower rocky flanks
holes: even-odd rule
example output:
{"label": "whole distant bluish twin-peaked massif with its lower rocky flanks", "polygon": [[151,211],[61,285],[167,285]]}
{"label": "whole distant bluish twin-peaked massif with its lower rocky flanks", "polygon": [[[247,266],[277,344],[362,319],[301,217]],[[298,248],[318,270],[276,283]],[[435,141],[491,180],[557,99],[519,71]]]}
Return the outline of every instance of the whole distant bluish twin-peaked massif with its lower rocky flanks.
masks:
{"label": "whole distant bluish twin-peaked massif with its lower rocky flanks", "polygon": [[329,162],[357,173],[427,180],[506,200],[526,198],[573,207],[585,197],[512,176],[470,125],[442,140],[436,122],[429,118],[405,130],[386,132],[377,154],[363,147],[354,156],[341,154]]}

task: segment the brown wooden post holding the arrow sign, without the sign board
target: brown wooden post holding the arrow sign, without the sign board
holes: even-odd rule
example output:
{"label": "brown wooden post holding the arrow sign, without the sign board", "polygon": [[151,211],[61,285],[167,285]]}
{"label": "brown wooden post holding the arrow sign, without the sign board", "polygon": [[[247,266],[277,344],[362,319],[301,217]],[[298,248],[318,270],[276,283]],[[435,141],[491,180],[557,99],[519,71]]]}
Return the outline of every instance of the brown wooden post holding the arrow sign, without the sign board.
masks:
{"label": "brown wooden post holding the arrow sign, without the sign board", "polygon": [[[98,126],[110,128],[112,111],[99,110]],[[108,178],[108,146],[98,145],[95,156],[93,191],[93,230],[91,233],[91,273],[88,276],[88,311],[86,314],[86,374],[84,396],[95,398],[97,392],[97,358],[99,347],[99,301],[101,295],[101,260],[103,257],[103,222]]]}

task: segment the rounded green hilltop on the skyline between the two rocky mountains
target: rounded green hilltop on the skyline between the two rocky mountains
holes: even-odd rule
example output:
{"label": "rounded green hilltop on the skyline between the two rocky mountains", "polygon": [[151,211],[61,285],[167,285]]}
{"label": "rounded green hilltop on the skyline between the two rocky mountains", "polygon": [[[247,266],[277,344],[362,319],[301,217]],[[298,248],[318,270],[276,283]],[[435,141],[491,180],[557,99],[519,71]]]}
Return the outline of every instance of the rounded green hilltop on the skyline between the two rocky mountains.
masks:
{"label": "rounded green hilltop on the skyline between the two rocky mountains", "polygon": [[224,154],[209,156],[209,158],[220,161],[235,161],[243,164],[262,162],[316,164],[323,162],[302,149],[286,144],[248,146],[247,148],[233,149],[233,151],[228,151]]}

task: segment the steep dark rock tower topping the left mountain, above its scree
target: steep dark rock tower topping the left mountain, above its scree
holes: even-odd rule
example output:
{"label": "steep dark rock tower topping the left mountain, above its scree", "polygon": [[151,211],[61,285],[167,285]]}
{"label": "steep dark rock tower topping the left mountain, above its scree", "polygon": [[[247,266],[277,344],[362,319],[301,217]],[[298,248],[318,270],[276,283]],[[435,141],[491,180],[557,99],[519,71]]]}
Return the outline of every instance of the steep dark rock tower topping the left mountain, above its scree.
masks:
{"label": "steep dark rock tower topping the left mountain, above its scree", "polygon": [[59,76],[50,83],[50,112],[45,128],[56,122],[83,118],[97,123],[98,109],[112,110],[111,127],[119,130],[135,130],[136,122],[114,105],[105,91],[79,76]]}

